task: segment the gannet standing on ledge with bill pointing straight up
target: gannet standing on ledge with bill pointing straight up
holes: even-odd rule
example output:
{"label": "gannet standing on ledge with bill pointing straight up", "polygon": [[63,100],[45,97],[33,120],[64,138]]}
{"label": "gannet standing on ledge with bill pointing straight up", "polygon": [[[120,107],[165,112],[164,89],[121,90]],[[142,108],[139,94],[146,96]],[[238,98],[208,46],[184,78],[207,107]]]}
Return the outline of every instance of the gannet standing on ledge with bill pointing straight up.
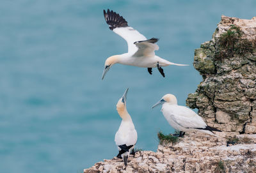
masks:
{"label": "gannet standing on ledge with bill pointing straight up", "polygon": [[119,116],[122,117],[122,123],[115,135],[115,142],[119,151],[116,157],[122,157],[125,165],[127,165],[131,151],[134,153],[133,148],[137,142],[137,132],[134,128],[134,124],[132,123],[132,118],[126,109],[127,92],[128,88],[116,104],[116,110]]}

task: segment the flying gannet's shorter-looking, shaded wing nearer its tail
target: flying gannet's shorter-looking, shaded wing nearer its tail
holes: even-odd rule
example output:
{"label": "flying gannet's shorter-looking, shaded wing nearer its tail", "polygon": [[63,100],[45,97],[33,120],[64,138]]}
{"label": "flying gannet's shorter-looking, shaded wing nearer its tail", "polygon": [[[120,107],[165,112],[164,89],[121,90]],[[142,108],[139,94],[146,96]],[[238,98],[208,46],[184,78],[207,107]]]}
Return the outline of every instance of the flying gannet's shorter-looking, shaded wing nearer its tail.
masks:
{"label": "flying gannet's shorter-looking, shaded wing nearer its tail", "polygon": [[140,57],[140,56],[148,56],[148,57],[154,57],[155,56],[155,50],[158,50],[159,47],[156,44],[158,41],[157,38],[151,38],[149,40],[144,41],[136,41],[134,44],[136,47],[138,47],[137,52],[133,56]]}

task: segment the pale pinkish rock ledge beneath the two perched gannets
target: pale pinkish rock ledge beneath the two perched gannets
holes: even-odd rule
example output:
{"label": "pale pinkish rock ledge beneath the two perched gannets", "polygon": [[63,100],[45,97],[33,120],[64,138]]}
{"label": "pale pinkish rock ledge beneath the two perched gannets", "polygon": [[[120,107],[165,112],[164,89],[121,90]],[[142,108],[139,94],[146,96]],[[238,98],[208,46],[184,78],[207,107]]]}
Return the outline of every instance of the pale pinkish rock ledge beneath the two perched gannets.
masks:
{"label": "pale pinkish rock ledge beneath the two perched gannets", "polygon": [[[246,137],[246,140],[243,140]],[[96,172],[256,172],[256,135],[239,135],[250,144],[227,147],[225,138],[191,133],[177,144],[158,146],[157,152],[138,151],[129,158],[95,163],[84,173]]]}

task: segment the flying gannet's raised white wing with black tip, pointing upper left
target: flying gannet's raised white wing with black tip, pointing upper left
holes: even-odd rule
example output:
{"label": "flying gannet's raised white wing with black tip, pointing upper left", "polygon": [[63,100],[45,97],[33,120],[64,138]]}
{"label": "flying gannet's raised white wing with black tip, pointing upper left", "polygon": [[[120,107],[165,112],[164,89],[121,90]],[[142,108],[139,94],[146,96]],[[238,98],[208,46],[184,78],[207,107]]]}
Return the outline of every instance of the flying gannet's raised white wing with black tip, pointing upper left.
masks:
{"label": "flying gannet's raised white wing with black tip, pointing upper left", "polygon": [[105,20],[109,25],[109,29],[114,31],[114,33],[122,36],[122,38],[127,41],[128,53],[134,54],[138,50],[138,47],[134,45],[134,42],[147,40],[143,34],[128,26],[127,21],[116,12],[112,10],[109,11],[108,9],[107,12],[103,10],[103,13]]}

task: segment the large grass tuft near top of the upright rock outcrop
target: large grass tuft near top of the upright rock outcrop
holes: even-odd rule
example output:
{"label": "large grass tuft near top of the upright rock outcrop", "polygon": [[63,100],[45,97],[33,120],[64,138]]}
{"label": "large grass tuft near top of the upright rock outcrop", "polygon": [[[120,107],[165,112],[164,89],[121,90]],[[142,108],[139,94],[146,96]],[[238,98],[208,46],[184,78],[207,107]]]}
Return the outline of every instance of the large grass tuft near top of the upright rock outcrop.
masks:
{"label": "large grass tuft near top of the upright rock outcrop", "polygon": [[255,49],[255,40],[242,39],[242,31],[238,26],[231,26],[227,32],[221,34],[218,42],[220,51],[216,54],[217,59],[227,57],[244,56],[244,54],[253,52]]}

